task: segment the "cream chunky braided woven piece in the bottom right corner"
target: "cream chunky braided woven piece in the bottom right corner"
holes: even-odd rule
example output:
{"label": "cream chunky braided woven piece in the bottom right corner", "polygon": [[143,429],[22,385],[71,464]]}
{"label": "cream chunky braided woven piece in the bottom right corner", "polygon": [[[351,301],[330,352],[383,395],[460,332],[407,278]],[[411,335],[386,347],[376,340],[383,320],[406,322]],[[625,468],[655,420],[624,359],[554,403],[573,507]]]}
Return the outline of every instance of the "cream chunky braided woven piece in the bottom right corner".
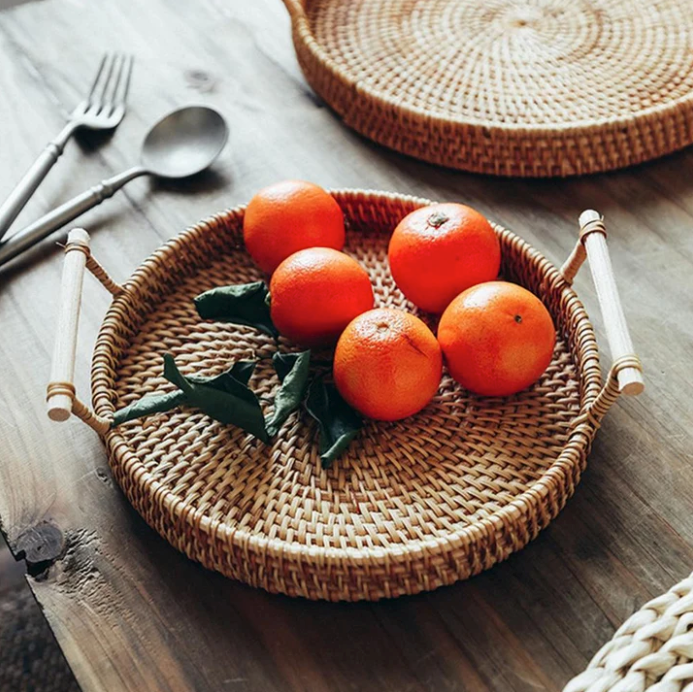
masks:
{"label": "cream chunky braided woven piece in the bottom right corner", "polygon": [[693,574],[631,615],[564,692],[645,690],[693,690]]}

